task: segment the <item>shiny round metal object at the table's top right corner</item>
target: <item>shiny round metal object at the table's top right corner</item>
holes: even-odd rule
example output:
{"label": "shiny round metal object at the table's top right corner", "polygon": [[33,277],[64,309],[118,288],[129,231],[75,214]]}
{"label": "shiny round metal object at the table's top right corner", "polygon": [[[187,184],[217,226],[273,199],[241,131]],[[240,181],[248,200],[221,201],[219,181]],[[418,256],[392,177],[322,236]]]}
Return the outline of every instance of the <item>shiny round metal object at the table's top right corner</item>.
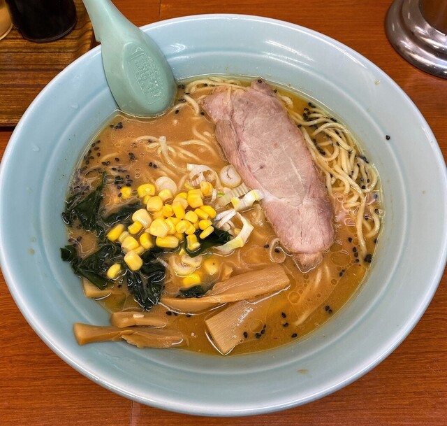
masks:
{"label": "shiny round metal object at the table's top right corner", "polygon": [[447,78],[447,0],[393,1],[386,35],[411,64]]}

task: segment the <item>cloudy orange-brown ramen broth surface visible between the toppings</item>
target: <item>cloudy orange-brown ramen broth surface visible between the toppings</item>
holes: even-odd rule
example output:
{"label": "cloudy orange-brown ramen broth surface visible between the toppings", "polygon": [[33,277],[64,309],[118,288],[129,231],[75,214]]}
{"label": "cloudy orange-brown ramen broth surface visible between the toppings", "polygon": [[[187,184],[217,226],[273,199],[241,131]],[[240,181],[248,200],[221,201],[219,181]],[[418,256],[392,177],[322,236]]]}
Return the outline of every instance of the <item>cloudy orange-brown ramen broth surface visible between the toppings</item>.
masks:
{"label": "cloudy orange-brown ramen broth surface visible between the toppings", "polygon": [[[108,175],[109,184],[104,187],[101,208],[107,213],[116,211],[118,205],[124,206],[137,200],[136,189],[142,184],[154,183],[160,176],[172,178],[178,186],[178,191],[185,191],[184,176],[188,163],[204,164],[217,173],[227,166],[228,162],[223,158],[214,137],[214,124],[201,111],[197,111],[196,104],[189,100],[189,97],[198,99],[211,93],[214,87],[203,83],[197,86],[199,90],[195,93],[186,92],[185,95],[185,90],[189,90],[189,87],[191,86],[186,83],[179,85],[177,106],[159,118],[142,120],[122,113],[114,115],[91,141],[82,156],[73,174],[68,196],[82,188],[97,187],[101,181],[99,172],[104,171]],[[294,92],[277,87],[277,94],[284,99],[288,109],[305,122],[315,120],[318,111],[321,111]],[[332,122],[336,123],[337,120],[332,119]],[[304,129],[306,126],[298,125],[298,127]],[[308,129],[311,134],[314,129],[318,129],[318,125],[309,126]],[[337,135],[341,133],[340,130],[335,131]],[[166,137],[166,145],[149,148],[161,135]],[[323,133],[314,139],[313,143],[317,148],[321,143],[322,148],[316,151],[320,155],[323,152],[323,155],[327,156],[330,152],[328,140],[330,138]],[[186,141],[198,141],[198,143],[186,143]],[[207,145],[212,146],[212,150]],[[182,148],[182,151],[180,152],[178,148]],[[360,148],[358,146],[356,148],[358,156],[361,157],[360,163],[365,159],[372,169],[366,157],[360,152]],[[166,150],[169,158],[184,171],[177,171],[172,164],[168,164],[164,154]],[[375,222],[377,222],[383,212],[379,205],[379,182],[376,177],[375,179],[374,187],[370,188],[370,193],[365,196],[365,202],[369,205],[368,212],[374,212],[372,215],[376,215]],[[358,177],[357,182],[360,186],[364,186],[361,185],[361,177]],[[336,179],[332,178],[332,183],[337,187]],[[125,188],[131,188],[130,196],[129,190]],[[240,336],[243,344],[235,346],[231,351],[232,354],[256,352],[301,339],[335,315],[358,290],[374,255],[378,229],[374,232],[375,222],[371,215],[365,212],[363,214],[365,218],[362,220],[366,223],[360,225],[364,231],[362,235],[364,246],[361,248],[356,217],[350,217],[340,207],[341,199],[340,191],[335,188],[331,195],[335,208],[335,243],[325,253],[321,264],[305,274],[299,271],[291,256],[284,254],[258,202],[244,211],[244,216],[254,226],[247,243],[228,255],[219,255],[215,252],[212,254],[212,259],[216,260],[219,267],[217,274],[210,275],[203,267],[196,271],[200,273],[200,278],[206,287],[210,283],[221,281],[226,276],[264,269],[274,262],[280,262],[291,280],[286,290],[266,299],[263,302],[265,308],[244,324]],[[226,209],[228,206],[221,208],[222,211]],[[356,206],[353,212],[358,213],[358,209],[359,206]],[[80,257],[91,255],[98,248],[96,236],[79,226],[68,226],[68,239],[78,250]],[[175,250],[175,253],[178,256],[179,249]],[[171,255],[168,253],[162,258],[169,264]],[[204,255],[203,262],[209,257],[210,255]],[[177,276],[172,268],[168,267],[163,294],[175,297],[179,288],[185,288],[183,280],[182,276]],[[122,276],[112,281],[111,287],[116,291],[110,296],[98,297],[99,303],[105,308],[111,312],[141,311],[141,307],[126,290]],[[205,319],[223,308],[225,307],[186,315],[166,308],[163,304],[157,304],[151,312],[160,315],[168,322],[166,328],[179,330],[187,337],[188,344],[185,348],[215,354],[217,351],[207,335]]]}

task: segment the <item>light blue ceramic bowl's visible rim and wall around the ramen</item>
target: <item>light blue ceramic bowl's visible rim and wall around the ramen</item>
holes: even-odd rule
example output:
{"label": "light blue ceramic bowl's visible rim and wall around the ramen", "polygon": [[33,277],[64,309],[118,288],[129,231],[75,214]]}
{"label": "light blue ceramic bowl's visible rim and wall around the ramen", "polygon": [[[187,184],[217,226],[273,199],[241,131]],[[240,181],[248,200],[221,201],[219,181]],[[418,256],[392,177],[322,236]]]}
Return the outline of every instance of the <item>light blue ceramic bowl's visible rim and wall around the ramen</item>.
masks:
{"label": "light blue ceramic bowl's visible rim and wall around the ramen", "polygon": [[166,53],[177,78],[263,76],[317,99],[348,123],[383,183],[386,221],[369,278],[357,297],[308,339],[257,355],[138,350],[125,343],[78,346],[73,322],[108,324],[108,313],[84,297],[59,255],[66,243],[61,211],[68,178],[82,149],[115,110],[101,50],[95,48],[31,104],[1,164],[1,267],[24,317],[55,353],[92,381],[172,411],[265,413],[351,383],[409,334],[444,269],[446,167],[430,127],[383,71],[309,29],[261,17],[206,15],[159,22],[145,31]]}

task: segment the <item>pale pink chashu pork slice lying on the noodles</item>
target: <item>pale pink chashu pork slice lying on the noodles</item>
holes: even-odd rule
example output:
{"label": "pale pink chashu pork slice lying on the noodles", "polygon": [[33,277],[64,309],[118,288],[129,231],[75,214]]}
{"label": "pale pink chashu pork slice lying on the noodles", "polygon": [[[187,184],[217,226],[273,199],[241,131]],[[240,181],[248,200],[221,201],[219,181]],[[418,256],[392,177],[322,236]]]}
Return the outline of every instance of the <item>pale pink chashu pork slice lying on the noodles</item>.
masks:
{"label": "pale pink chashu pork slice lying on the noodles", "polygon": [[201,102],[244,182],[260,189],[281,244],[308,271],[334,241],[332,205],[304,137],[263,80],[248,90],[219,87]]}

